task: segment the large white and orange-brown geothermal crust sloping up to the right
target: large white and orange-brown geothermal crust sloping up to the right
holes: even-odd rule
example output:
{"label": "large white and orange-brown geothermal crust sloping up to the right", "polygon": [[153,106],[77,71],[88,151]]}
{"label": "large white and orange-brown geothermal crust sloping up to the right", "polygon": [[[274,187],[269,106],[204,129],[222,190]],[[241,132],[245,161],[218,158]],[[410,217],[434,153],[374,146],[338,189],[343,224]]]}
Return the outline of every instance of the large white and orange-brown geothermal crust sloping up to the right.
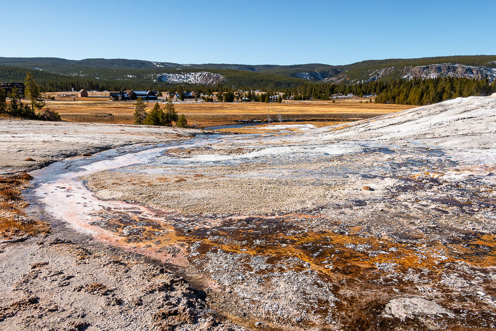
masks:
{"label": "large white and orange-brown geothermal crust sloping up to the right", "polygon": [[152,162],[79,179],[99,199],[173,213],[162,228],[172,226],[174,239],[164,239],[160,222],[155,231],[95,224],[176,252],[164,259],[181,256],[192,278],[214,280],[215,307],[243,324],[488,327],[496,317],[495,113],[495,98],[459,98],[166,149]]}

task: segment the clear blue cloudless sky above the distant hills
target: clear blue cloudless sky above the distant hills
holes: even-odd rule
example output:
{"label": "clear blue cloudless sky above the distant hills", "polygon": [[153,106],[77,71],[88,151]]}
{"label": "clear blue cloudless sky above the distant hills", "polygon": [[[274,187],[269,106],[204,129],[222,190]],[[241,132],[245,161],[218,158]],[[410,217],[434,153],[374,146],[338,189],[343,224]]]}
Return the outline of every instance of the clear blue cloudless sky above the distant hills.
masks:
{"label": "clear blue cloudless sky above the distant hills", "polygon": [[348,64],[495,55],[496,1],[2,1],[0,56]]}

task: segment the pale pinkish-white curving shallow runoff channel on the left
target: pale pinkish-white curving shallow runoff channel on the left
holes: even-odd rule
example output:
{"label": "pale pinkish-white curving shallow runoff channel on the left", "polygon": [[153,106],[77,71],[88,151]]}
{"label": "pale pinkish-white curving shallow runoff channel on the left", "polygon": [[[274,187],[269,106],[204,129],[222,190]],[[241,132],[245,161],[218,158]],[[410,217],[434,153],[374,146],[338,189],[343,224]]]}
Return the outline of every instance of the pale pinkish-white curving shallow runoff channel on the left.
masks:
{"label": "pale pinkish-white curving shallow runoff channel on the left", "polygon": [[85,186],[84,182],[78,180],[79,177],[103,170],[148,164],[159,157],[163,158],[163,152],[168,149],[200,147],[215,144],[222,139],[229,138],[221,137],[221,135],[202,135],[181,143],[113,149],[89,158],[67,159],[31,171],[34,186],[23,192],[30,202],[27,211],[51,223],[66,222],[74,230],[96,236],[102,241],[114,241],[112,232],[89,224],[101,219],[97,214],[98,211],[112,210],[139,214],[149,219],[156,219],[155,213],[144,206],[124,201],[102,201],[93,196],[93,192]]}

